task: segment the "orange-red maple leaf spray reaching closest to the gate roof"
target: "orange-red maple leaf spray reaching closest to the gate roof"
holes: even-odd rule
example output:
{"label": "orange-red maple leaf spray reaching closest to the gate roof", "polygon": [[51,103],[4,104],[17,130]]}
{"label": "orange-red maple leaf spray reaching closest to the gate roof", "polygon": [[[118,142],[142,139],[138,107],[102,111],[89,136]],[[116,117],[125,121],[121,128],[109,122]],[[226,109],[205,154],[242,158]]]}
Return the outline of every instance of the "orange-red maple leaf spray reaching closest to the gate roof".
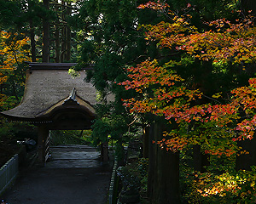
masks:
{"label": "orange-red maple leaf spray reaching closest to the gate roof", "polygon": [[172,115],[178,114],[178,109],[185,109],[188,102],[201,98],[198,90],[181,86],[183,78],[177,76],[172,69],[159,66],[156,59],[130,67],[127,71],[130,80],[119,85],[125,86],[126,90],[135,89],[138,94],[143,95],[142,100],[132,98],[124,101],[131,112],[153,112],[170,119]]}

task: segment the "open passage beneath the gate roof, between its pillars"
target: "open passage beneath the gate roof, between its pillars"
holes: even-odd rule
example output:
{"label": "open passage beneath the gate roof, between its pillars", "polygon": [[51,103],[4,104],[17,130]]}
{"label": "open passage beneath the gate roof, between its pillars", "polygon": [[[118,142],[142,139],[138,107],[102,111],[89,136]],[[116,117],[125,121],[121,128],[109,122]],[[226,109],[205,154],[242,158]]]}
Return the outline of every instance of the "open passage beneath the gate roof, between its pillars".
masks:
{"label": "open passage beneath the gate roof, between its pillars", "polygon": [[49,159],[45,167],[55,169],[101,166],[100,151],[91,145],[90,135],[91,130],[49,131]]}

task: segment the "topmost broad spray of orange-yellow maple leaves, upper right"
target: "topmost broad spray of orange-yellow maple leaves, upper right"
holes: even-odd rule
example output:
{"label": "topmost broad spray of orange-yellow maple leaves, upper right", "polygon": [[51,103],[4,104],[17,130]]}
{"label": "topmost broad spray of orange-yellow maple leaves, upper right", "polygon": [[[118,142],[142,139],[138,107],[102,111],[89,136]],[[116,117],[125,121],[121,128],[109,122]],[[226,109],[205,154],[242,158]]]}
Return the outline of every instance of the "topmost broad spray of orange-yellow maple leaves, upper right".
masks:
{"label": "topmost broad spray of orange-yellow maple leaves, upper right", "polygon": [[177,16],[170,12],[172,22],[144,26],[146,39],[158,41],[160,48],[176,49],[203,60],[252,63],[256,57],[256,28],[253,16],[248,15],[231,23],[214,20],[207,23],[207,31],[190,25],[189,14]]}

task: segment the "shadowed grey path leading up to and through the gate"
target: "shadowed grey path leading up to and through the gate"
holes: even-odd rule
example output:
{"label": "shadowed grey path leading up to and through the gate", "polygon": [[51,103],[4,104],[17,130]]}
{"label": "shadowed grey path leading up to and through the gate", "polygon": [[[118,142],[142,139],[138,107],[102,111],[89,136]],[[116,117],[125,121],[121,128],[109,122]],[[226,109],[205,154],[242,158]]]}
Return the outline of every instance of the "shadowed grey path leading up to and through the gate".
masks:
{"label": "shadowed grey path leading up to and through the gate", "polygon": [[5,195],[9,204],[106,204],[112,165],[86,146],[51,148],[45,167],[21,173]]}

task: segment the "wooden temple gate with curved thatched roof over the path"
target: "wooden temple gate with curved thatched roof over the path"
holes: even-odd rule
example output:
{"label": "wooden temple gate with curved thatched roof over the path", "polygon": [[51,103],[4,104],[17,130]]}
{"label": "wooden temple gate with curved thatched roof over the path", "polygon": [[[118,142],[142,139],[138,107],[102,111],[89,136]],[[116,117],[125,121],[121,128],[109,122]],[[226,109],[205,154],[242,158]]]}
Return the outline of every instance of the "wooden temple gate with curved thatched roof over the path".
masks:
{"label": "wooden temple gate with curved thatched roof over the path", "polygon": [[[20,105],[1,114],[13,121],[31,122],[38,126],[38,160],[49,157],[49,130],[90,129],[96,111],[96,89],[84,82],[86,69],[73,78],[68,69],[72,63],[29,63],[26,87]],[[108,160],[108,146],[102,160]]]}

